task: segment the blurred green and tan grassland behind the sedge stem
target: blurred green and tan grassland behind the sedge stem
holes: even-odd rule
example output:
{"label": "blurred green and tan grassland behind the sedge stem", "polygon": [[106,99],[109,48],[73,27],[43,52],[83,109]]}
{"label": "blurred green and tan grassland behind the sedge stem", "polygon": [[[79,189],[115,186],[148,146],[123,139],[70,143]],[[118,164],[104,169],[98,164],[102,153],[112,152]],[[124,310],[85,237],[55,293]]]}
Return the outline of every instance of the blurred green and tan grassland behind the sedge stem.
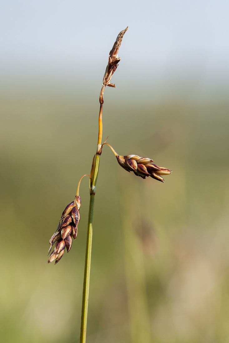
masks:
{"label": "blurred green and tan grassland behind the sedge stem", "polygon": [[[88,180],[80,187],[81,221],[72,249],[55,267],[46,255],[96,149],[98,102],[88,104],[88,98],[1,99],[2,342],[70,343],[79,337]],[[88,343],[131,342],[131,321],[141,325],[146,314],[151,342],[229,340],[228,110],[217,102],[105,104],[104,139],[109,134],[118,153],[152,157],[173,174],[164,184],[135,177],[104,147]],[[124,232],[133,246],[124,244]],[[133,254],[128,260],[127,249]],[[141,249],[139,284],[146,296],[135,313],[126,286],[132,280],[136,289],[138,282],[134,249]]]}

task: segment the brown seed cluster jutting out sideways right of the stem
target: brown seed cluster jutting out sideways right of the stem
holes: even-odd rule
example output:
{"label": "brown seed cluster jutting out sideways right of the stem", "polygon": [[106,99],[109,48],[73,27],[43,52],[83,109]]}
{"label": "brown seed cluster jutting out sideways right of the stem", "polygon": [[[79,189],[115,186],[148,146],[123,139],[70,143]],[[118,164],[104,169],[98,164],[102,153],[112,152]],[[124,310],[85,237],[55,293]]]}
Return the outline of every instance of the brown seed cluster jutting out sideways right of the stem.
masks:
{"label": "brown seed cluster jutting out sideways right of the stem", "polygon": [[164,182],[162,175],[172,173],[172,171],[167,168],[152,164],[152,162],[154,162],[153,159],[147,157],[140,157],[138,155],[116,155],[116,158],[122,168],[129,172],[133,171],[135,175],[141,176],[143,179],[145,179],[146,176],[150,176],[155,180]]}

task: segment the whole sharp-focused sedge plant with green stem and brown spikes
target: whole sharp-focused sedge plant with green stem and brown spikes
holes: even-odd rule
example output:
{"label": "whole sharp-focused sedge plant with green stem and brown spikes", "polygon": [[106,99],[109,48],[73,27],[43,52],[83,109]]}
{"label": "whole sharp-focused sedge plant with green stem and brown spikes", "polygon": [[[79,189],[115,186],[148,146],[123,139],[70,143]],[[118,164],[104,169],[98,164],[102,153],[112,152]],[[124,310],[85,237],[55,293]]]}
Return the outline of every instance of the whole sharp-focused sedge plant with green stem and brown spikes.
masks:
{"label": "whole sharp-focused sedge plant with green stem and brown spikes", "polygon": [[140,157],[138,155],[119,155],[113,149],[113,147],[106,143],[102,144],[102,106],[103,106],[103,94],[106,86],[116,87],[112,84],[111,77],[118,67],[120,58],[118,57],[118,51],[122,42],[122,38],[126,33],[128,27],[121,31],[117,36],[117,39],[110,51],[109,60],[106,67],[105,74],[103,76],[102,88],[99,95],[99,131],[98,131],[98,142],[96,148],[96,154],[92,160],[92,167],[89,174],[83,175],[78,183],[77,192],[74,201],[70,202],[64,209],[57,229],[50,239],[50,249],[48,254],[51,252],[52,246],[54,250],[51,252],[48,259],[48,263],[55,260],[55,264],[59,262],[62,258],[65,249],[69,252],[72,247],[73,239],[77,237],[78,223],[80,221],[80,205],[81,200],[79,196],[79,186],[83,177],[89,176],[90,178],[90,203],[89,203],[89,213],[88,213],[88,228],[87,228],[87,241],[86,241],[86,256],[85,256],[85,270],[84,270],[84,286],[83,286],[83,300],[82,300],[82,311],[81,311],[81,327],[80,327],[80,343],[86,342],[86,330],[87,330],[87,310],[88,310],[88,295],[89,295],[89,280],[90,280],[90,265],[91,265],[91,246],[92,246],[92,222],[94,214],[94,203],[95,203],[95,192],[96,192],[96,182],[98,178],[99,171],[99,161],[102,153],[103,146],[108,145],[114,155],[117,158],[119,165],[127,170],[128,172],[133,171],[133,173],[141,178],[152,177],[158,181],[164,182],[163,175],[171,174],[172,171],[159,167],[153,164],[153,159],[148,157]]}

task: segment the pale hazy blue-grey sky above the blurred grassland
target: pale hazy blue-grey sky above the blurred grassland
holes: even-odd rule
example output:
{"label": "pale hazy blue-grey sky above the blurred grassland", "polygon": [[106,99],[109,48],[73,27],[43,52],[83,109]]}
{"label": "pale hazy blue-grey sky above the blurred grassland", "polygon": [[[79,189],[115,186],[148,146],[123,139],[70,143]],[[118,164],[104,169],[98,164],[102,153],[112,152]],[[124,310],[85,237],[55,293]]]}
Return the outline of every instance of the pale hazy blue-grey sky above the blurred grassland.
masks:
{"label": "pale hazy blue-grey sky above the blurred grassland", "polygon": [[0,82],[101,82],[128,25],[120,78],[159,88],[187,79],[228,87],[228,17],[228,0],[1,0]]}

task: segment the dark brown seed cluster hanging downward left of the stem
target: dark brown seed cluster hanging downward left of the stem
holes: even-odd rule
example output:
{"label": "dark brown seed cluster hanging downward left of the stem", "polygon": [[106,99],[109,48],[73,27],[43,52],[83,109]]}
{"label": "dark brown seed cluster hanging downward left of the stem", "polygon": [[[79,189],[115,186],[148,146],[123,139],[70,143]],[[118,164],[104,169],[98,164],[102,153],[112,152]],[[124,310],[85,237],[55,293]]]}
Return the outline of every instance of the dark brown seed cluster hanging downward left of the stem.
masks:
{"label": "dark brown seed cluster hanging downward left of the stem", "polygon": [[55,243],[55,248],[51,252],[48,263],[55,261],[55,264],[59,262],[64,254],[64,249],[67,249],[67,252],[72,247],[72,238],[76,239],[77,236],[77,225],[80,220],[79,209],[81,205],[80,196],[76,196],[75,200],[68,204],[62,213],[61,219],[57,226],[56,232],[50,238],[50,253],[52,246]]}

